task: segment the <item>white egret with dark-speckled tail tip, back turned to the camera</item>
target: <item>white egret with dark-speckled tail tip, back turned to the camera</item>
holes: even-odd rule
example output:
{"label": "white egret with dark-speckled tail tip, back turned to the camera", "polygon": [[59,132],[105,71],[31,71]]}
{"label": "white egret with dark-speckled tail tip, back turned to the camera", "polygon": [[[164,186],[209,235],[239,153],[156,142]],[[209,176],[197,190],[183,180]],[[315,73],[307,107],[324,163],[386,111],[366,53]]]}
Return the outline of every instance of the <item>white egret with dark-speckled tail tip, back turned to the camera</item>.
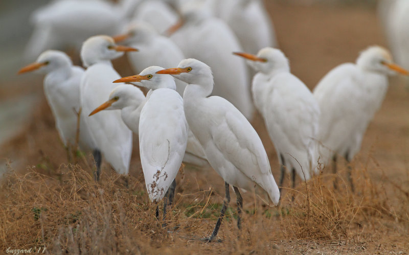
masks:
{"label": "white egret with dark-speckled tail tip, back turned to the camera", "polygon": [[[124,77],[114,82],[131,82],[149,88],[142,108],[139,125],[139,150],[146,189],[152,202],[167,197],[172,204],[175,177],[179,171],[188,143],[188,123],[183,99],[176,92],[170,75],[157,75],[160,66],[150,66],[139,75]],[[171,186],[171,189],[169,187]],[[164,205],[166,215],[166,201]],[[156,211],[156,216],[158,211]]]}

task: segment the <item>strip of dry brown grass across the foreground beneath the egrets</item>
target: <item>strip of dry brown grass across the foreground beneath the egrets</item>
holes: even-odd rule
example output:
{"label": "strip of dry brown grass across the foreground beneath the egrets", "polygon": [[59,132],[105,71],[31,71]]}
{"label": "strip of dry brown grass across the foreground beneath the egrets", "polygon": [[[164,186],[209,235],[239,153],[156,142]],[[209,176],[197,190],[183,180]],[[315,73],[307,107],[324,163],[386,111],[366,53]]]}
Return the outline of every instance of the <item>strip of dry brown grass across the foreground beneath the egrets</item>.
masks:
{"label": "strip of dry brown grass across the foreground beneath the egrets", "polygon": [[[192,189],[189,184],[182,185],[189,189],[181,189],[179,185],[168,225],[163,228],[163,222],[154,216],[156,205],[149,202],[143,178],[129,177],[126,188],[124,177],[115,172],[105,171],[96,183],[92,171],[82,161],[55,169],[41,163],[25,173],[9,172],[0,188],[0,250],[46,247],[52,254],[266,253],[291,251],[295,243],[298,248],[293,251],[330,252],[335,248],[372,253],[376,249],[383,252],[381,244],[394,238],[395,247],[388,251],[409,251],[409,190],[402,185],[408,181],[373,183],[366,168],[354,169],[354,180],[364,180],[357,183],[355,194],[342,178],[344,170],[337,176],[337,190],[332,185],[334,175],[322,174],[284,193],[278,207],[266,207],[254,194],[244,194],[241,233],[236,227],[233,197],[219,234],[222,243],[215,244],[199,239],[210,234],[222,193]],[[185,178],[179,176],[179,184],[186,184]],[[398,195],[396,201],[386,190]],[[362,249],[366,246],[371,249]]]}

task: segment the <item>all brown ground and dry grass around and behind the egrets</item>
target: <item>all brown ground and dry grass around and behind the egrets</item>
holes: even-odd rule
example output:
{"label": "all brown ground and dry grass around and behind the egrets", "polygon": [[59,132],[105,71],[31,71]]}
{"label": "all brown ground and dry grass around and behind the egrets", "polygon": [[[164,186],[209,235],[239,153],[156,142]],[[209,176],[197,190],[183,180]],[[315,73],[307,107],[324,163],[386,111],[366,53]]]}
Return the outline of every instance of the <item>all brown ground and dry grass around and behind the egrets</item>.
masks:
{"label": "all brown ground and dry grass around and behind the egrets", "polygon": [[[292,72],[311,88],[335,65],[353,61],[360,50],[383,42],[372,7],[287,2],[266,5]],[[132,75],[123,60],[114,65],[121,75]],[[36,88],[41,87],[38,82]],[[355,194],[348,189],[342,162],[337,190],[335,176],[326,169],[319,177],[299,182],[296,190],[284,189],[277,207],[266,207],[247,192],[242,194],[239,232],[231,190],[231,207],[218,235],[222,242],[207,244],[198,240],[211,234],[224,196],[223,180],[214,170],[179,172],[175,205],[168,227],[162,228],[146,194],[138,145],[128,188],[124,177],[104,164],[101,180],[95,183],[88,156],[67,160],[43,100],[26,130],[0,148],[0,160],[18,160],[9,164],[10,172],[0,182],[0,253],[8,247],[46,247],[44,252],[51,254],[409,253],[407,107],[407,91],[392,85],[362,152],[352,162]],[[252,124],[277,177],[277,157],[264,124],[259,117]]]}

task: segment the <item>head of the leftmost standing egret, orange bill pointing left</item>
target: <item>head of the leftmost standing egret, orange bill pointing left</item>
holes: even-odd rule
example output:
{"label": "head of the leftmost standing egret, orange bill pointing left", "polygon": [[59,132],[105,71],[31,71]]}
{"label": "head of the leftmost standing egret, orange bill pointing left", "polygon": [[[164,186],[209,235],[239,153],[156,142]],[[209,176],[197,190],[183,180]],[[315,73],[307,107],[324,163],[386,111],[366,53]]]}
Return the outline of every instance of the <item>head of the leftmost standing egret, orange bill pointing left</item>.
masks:
{"label": "head of the leftmost standing egret, orange bill pointing left", "polygon": [[18,74],[31,71],[38,71],[42,74],[50,73],[59,68],[70,67],[73,65],[70,57],[61,51],[48,50],[40,54],[37,60],[18,71]]}

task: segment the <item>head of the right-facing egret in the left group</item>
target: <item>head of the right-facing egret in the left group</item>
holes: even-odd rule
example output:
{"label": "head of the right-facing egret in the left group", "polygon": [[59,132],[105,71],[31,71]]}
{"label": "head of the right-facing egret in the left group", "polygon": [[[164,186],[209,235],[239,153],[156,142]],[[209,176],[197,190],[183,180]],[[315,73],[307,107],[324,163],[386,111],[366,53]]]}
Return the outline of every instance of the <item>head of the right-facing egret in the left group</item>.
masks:
{"label": "head of the right-facing egret in the left group", "polygon": [[82,44],[81,59],[84,66],[110,61],[112,59],[121,57],[124,52],[138,51],[137,49],[117,45],[112,37],[107,35],[97,35],[89,37]]}

